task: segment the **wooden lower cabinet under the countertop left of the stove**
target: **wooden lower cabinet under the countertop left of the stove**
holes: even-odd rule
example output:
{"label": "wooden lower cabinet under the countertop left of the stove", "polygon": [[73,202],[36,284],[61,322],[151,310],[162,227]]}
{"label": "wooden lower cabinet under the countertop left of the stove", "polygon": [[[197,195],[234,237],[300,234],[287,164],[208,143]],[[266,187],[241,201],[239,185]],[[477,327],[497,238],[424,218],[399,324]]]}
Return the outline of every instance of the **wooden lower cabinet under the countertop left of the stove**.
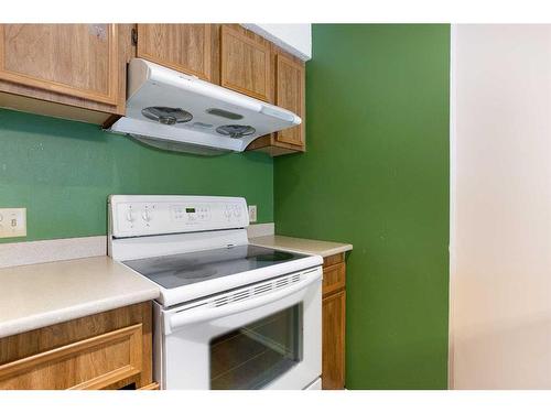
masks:
{"label": "wooden lower cabinet under the countertop left of the stove", "polygon": [[0,389],[154,389],[151,303],[0,338]]}

